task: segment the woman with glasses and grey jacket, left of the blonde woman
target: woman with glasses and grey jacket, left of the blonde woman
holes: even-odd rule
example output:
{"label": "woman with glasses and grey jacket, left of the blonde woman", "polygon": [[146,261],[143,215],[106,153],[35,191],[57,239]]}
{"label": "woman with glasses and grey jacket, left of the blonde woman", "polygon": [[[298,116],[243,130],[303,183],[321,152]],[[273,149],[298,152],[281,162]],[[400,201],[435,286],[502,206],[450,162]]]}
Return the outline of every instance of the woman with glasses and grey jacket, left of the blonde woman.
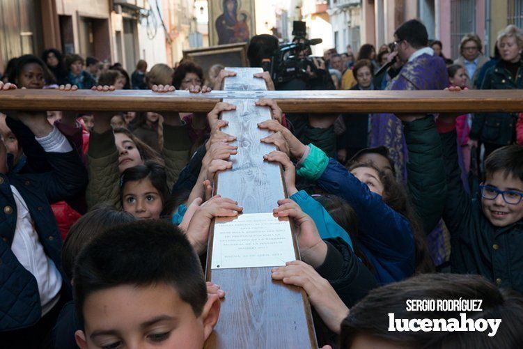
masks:
{"label": "woman with glasses and grey jacket, left of the blonde woman", "polygon": [[461,39],[460,43],[460,58],[454,61],[454,64],[459,64],[467,72],[467,87],[479,87],[481,82],[476,82],[479,71],[483,64],[489,61],[488,57],[483,56],[481,50],[481,39],[477,34],[470,33]]}

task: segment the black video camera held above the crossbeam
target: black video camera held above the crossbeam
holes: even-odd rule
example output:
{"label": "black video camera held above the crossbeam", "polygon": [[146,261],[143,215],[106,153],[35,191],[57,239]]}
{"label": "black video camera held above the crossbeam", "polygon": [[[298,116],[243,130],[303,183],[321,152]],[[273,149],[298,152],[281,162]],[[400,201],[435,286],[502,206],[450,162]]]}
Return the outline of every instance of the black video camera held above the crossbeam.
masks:
{"label": "black video camera held above the crossbeam", "polygon": [[307,39],[305,22],[301,21],[292,23],[292,36],[292,43],[279,46],[271,59],[262,61],[262,68],[270,72],[276,89],[292,80],[306,83],[317,70],[309,55],[311,46],[320,44],[322,39]]}

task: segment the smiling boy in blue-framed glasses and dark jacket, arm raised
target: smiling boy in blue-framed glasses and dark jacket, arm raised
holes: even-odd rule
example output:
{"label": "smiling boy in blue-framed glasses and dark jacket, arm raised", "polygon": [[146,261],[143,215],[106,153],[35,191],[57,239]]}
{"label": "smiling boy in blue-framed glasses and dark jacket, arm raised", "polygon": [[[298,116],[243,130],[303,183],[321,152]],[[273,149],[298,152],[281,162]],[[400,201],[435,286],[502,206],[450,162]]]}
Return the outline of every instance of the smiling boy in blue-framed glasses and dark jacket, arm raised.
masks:
{"label": "smiling boy in blue-framed glasses and dark jacket, arm raised", "polygon": [[523,146],[494,150],[485,160],[480,193],[471,197],[460,179],[455,123],[438,124],[448,186],[443,219],[451,233],[452,272],[481,274],[497,286],[523,293]]}

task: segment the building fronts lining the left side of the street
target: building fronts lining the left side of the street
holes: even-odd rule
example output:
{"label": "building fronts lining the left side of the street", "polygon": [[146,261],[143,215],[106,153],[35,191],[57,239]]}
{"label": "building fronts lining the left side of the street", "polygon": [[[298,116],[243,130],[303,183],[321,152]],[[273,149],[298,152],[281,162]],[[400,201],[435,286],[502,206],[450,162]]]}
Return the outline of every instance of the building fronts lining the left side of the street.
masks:
{"label": "building fronts lining the left side of the street", "polygon": [[[194,4],[194,0],[2,0],[0,72],[8,59],[40,56],[51,47],[120,62],[130,72],[139,59],[150,66],[174,65],[189,48]],[[202,31],[202,26],[194,31]]]}

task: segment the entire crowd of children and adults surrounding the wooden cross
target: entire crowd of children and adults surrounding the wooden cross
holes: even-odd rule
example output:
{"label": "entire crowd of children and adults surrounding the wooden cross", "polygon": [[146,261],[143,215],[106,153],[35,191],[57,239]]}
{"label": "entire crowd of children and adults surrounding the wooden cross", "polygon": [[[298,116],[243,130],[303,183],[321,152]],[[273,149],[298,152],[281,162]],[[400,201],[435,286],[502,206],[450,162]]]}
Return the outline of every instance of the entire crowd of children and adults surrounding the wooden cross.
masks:
{"label": "entire crowd of children and adults surrounding the wooden cross", "polygon": [[[325,53],[336,88],[523,89],[523,32],[500,31],[496,55],[462,39],[455,61],[409,20],[394,42]],[[251,38],[251,66],[277,47]],[[349,47],[350,48],[350,47]],[[56,88],[153,93],[220,89],[234,72],[181,61],[129,75],[120,65],[47,49],[8,62],[0,93]],[[327,75],[327,76],[328,76]],[[268,72],[254,75],[274,89]],[[325,348],[523,347],[523,114],[283,114],[258,127],[277,150],[289,198],[274,215],[297,226],[302,261],[272,277],[304,288]],[[203,348],[230,290],[205,283],[214,217],[242,203],[212,196],[215,174],[238,148],[219,102],[208,114],[155,110],[1,111],[0,346]],[[501,318],[487,332],[391,332],[407,300],[482,300],[471,318]],[[270,300],[267,300],[270,301]],[[476,309],[477,310],[477,309]]]}

